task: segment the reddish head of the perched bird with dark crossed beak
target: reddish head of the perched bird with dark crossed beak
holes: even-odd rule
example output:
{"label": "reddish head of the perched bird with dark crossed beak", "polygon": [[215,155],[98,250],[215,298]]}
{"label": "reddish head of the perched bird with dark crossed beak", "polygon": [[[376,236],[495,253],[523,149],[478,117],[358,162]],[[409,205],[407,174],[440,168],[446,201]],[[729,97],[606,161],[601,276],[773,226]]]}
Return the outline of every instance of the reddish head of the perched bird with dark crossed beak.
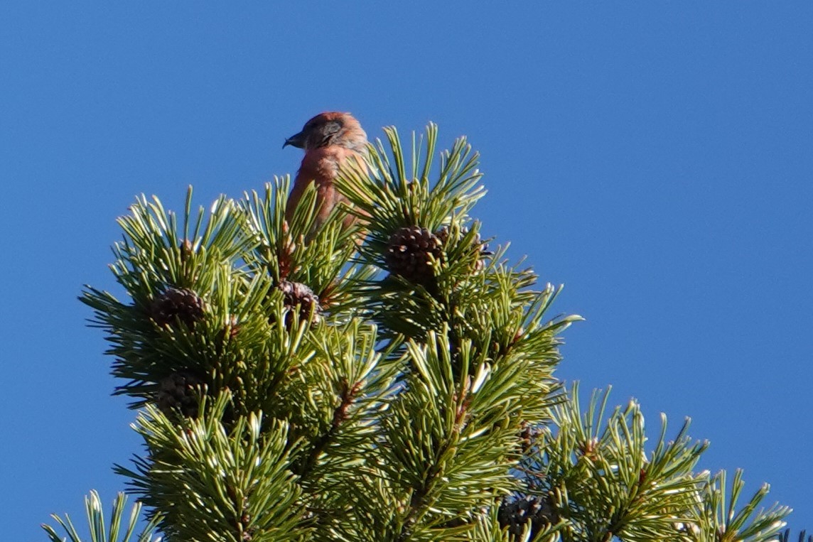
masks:
{"label": "reddish head of the perched bird with dark crossed beak", "polygon": [[328,145],[338,145],[360,152],[367,145],[367,134],[350,113],[328,111],[307,121],[302,132],[286,139],[282,148],[285,149],[287,145],[304,149],[306,152]]}

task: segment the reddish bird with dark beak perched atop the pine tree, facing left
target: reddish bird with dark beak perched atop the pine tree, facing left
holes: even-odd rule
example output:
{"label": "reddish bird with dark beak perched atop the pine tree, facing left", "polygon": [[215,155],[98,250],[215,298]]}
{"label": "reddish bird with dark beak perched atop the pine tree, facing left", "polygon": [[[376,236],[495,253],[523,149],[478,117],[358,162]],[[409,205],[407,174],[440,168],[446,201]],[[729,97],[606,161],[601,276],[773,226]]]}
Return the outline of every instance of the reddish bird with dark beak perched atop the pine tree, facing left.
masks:
{"label": "reddish bird with dark beak perched atop the pine tree, facing left", "polygon": [[[313,182],[316,185],[315,230],[324,223],[334,207],[346,201],[333,181],[341,167],[345,167],[350,160],[357,160],[363,167],[367,133],[350,113],[325,111],[308,120],[300,132],[287,138],[282,148],[288,145],[304,150],[305,156],[293,180],[285,219],[291,222],[302,194]],[[342,225],[349,228],[354,220],[354,216],[347,215],[342,219]]]}

